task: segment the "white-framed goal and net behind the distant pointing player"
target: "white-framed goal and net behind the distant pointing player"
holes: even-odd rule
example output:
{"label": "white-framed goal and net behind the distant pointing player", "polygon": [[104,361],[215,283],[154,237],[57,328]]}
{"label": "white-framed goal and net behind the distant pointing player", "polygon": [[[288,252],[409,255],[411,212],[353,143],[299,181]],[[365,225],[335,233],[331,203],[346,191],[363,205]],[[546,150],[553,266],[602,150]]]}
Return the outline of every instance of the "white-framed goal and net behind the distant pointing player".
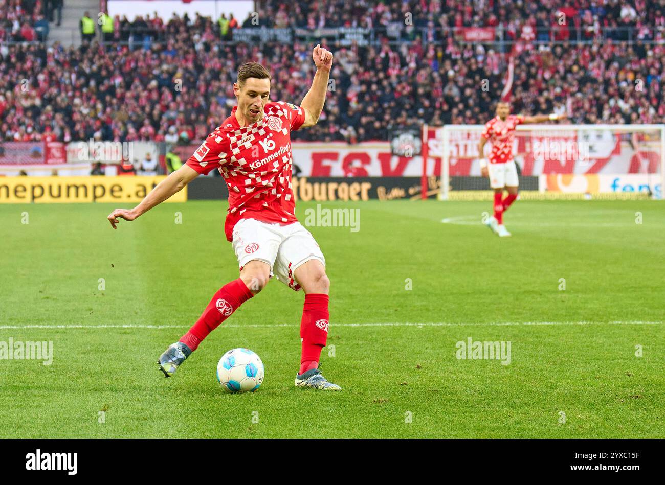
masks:
{"label": "white-framed goal and net behind the distant pointing player", "polygon": [[[483,125],[423,127],[423,181],[440,177],[439,199],[491,197],[489,179],[480,173],[477,148],[483,129]],[[490,151],[487,142],[483,155]],[[662,124],[520,125],[513,157],[523,198],[663,198]]]}

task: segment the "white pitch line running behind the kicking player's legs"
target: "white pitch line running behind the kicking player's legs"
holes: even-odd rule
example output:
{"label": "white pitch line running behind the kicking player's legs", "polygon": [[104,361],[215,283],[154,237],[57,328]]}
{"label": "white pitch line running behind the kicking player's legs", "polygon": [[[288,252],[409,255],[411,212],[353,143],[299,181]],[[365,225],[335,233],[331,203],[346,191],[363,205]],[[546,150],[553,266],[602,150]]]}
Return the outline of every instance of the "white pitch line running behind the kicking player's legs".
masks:
{"label": "white pitch line running behind the kicking player's legs", "polygon": [[[614,321],[614,322],[382,322],[365,324],[332,324],[332,327],[469,327],[469,326],[557,326],[557,325],[662,325],[664,322]],[[230,324],[225,328],[279,328],[299,327],[300,324]],[[190,328],[190,325],[2,325],[0,330],[21,330],[31,328],[46,329],[100,329],[100,328],[138,328],[138,329],[164,329],[164,328]]]}

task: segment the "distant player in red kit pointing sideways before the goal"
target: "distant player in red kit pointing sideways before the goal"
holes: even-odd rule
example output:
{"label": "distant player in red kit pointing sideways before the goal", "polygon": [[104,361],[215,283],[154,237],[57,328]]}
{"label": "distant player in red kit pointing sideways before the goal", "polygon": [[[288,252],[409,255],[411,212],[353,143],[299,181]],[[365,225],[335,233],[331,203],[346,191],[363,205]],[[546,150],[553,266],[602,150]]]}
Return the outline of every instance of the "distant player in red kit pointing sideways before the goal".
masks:
{"label": "distant player in red kit pointing sideways before the goal", "polygon": [[[513,141],[515,140],[515,127],[521,124],[541,123],[545,121],[563,120],[565,114],[538,114],[536,116],[523,116],[510,114],[510,104],[499,102],[494,118],[485,123],[485,130],[480,136],[478,153],[480,156],[480,170],[483,177],[489,176],[489,185],[494,189],[494,215],[487,220],[487,227],[499,237],[510,236],[503,225],[503,213],[517,199],[517,167],[513,159]],[[489,165],[485,159],[485,144],[491,142]],[[503,189],[508,195],[503,198]]]}

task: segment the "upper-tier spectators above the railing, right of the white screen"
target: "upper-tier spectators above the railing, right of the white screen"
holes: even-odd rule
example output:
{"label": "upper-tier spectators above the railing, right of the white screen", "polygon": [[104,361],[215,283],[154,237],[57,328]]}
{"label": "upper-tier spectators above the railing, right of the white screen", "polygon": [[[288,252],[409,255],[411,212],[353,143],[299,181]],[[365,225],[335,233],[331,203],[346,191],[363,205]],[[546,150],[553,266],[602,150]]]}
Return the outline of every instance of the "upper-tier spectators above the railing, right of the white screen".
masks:
{"label": "upper-tier spectators above the railing, right of the white screen", "polygon": [[[651,27],[665,26],[664,0],[283,0],[259,1],[261,22],[269,27],[364,27],[382,29],[408,19],[414,27],[453,29],[499,27],[507,38],[517,38],[523,25],[531,25],[540,40],[550,29],[557,39],[574,37],[581,29],[590,39],[600,29],[616,29],[614,40],[625,40],[628,29],[648,38]],[[561,24],[561,14],[570,22]],[[250,20],[250,19],[248,19]],[[243,27],[252,27],[245,20]],[[622,29],[624,28],[624,29]],[[445,35],[445,34],[444,34]]]}

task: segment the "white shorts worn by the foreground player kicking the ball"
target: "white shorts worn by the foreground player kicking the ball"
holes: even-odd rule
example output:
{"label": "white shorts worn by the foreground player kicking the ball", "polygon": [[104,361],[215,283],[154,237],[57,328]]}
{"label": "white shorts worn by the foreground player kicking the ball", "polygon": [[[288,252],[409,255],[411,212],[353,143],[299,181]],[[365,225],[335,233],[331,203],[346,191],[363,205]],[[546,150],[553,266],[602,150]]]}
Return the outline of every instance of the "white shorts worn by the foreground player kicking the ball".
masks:
{"label": "white shorts worn by the foreground player kicking the ball", "polygon": [[240,219],[233,227],[233,252],[240,269],[252,260],[270,265],[270,276],[295,291],[300,285],[295,280],[295,270],[309,260],[326,260],[312,233],[299,222],[288,225],[264,223],[256,219]]}

